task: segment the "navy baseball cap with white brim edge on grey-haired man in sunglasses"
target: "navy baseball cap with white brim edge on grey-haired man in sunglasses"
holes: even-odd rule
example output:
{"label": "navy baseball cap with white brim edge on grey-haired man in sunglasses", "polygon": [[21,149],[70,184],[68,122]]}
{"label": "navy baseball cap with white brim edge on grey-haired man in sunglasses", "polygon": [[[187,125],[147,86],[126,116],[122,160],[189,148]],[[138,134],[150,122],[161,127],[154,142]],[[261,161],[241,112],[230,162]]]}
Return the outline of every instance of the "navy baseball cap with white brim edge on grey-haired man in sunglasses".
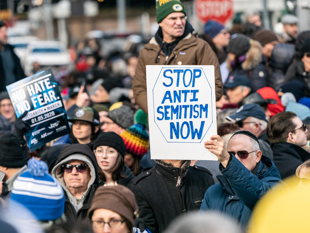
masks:
{"label": "navy baseball cap with white brim edge on grey-haired man in sunglasses", "polygon": [[229,121],[243,121],[247,117],[255,117],[268,122],[263,108],[256,103],[242,105],[235,114],[227,116],[226,119]]}

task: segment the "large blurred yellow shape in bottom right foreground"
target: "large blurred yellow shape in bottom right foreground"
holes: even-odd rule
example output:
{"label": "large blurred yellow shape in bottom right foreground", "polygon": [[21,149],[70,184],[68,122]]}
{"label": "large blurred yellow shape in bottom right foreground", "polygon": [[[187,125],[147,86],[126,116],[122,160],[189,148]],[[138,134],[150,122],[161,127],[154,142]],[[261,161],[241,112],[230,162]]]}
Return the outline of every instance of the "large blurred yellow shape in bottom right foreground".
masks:
{"label": "large blurred yellow shape in bottom right foreground", "polygon": [[247,232],[309,232],[310,184],[301,184],[296,176],[284,182],[257,203]]}

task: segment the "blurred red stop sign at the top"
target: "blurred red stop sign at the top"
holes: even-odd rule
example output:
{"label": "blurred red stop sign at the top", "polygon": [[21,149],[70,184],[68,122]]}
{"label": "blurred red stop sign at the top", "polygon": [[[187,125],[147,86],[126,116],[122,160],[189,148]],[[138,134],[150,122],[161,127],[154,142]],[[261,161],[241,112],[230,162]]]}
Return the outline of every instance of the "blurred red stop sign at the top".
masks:
{"label": "blurred red stop sign at the top", "polygon": [[203,22],[213,19],[224,24],[233,16],[232,0],[196,0],[195,8]]}

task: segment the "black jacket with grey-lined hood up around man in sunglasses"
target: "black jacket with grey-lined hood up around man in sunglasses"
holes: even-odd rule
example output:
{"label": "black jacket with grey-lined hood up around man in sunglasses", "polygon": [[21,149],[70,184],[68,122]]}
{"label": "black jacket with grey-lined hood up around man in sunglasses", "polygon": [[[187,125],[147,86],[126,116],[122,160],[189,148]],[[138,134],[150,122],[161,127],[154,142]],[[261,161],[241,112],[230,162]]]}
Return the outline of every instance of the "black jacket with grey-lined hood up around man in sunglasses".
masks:
{"label": "black jacket with grey-lined hood up around man in sunglasses", "polygon": [[[83,194],[85,197],[82,199],[73,198],[64,182],[64,172],[61,166],[72,160],[81,160],[85,162],[90,169],[91,179],[88,182],[87,191]],[[86,220],[87,210],[91,205],[91,200],[94,196],[95,190],[98,188],[98,186],[103,184],[103,182],[98,178],[98,167],[95,155],[92,153],[89,146],[85,144],[73,144],[66,146],[61,150],[59,158],[55,164],[56,165],[52,170],[52,176],[54,176],[59,181],[60,185],[64,189],[66,198],[64,213],[67,221]],[[79,203],[80,200],[83,201],[82,204]],[[74,205],[78,204],[82,205],[82,207],[76,211],[73,206],[73,202]]]}

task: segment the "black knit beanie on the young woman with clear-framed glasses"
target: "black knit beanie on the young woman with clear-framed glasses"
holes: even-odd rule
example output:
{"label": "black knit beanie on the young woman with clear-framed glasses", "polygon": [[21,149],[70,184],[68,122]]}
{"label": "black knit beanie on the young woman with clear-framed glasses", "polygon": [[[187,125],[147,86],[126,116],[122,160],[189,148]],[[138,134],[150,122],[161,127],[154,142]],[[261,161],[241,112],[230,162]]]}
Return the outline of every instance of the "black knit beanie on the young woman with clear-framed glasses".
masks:
{"label": "black knit beanie on the young woman with clear-framed glasses", "polygon": [[94,143],[94,149],[98,146],[109,146],[116,149],[124,158],[125,157],[125,144],[120,135],[114,132],[101,133]]}

